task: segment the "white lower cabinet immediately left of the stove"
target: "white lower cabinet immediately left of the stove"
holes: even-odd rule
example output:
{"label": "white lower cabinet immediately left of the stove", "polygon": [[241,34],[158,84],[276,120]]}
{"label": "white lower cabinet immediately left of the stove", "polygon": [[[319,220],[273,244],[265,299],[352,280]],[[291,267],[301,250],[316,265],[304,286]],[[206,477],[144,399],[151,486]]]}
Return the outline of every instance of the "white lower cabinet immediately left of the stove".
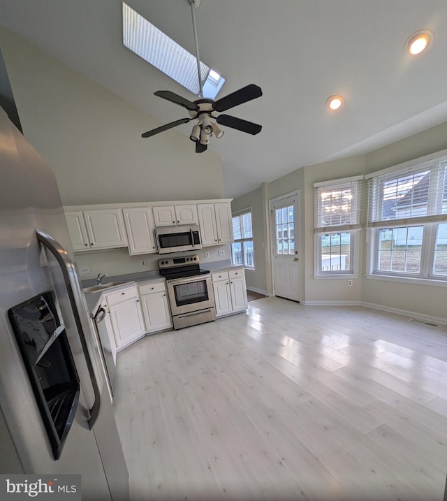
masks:
{"label": "white lower cabinet immediately left of the stove", "polygon": [[146,332],[154,333],[171,328],[173,322],[170,316],[165,282],[140,284],[138,289],[145,317]]}

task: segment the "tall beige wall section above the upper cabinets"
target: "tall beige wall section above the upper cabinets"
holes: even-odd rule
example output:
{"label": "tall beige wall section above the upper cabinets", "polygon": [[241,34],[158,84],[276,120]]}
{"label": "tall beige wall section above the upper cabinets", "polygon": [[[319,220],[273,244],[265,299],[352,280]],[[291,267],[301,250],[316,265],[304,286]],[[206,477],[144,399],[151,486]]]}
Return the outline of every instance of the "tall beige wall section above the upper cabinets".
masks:
{"label": "tall beige wall section above the upper cabinets", "polygon": [[6,29],[0,47],[24,136],[56,173],[64,205],[223,197],[217,154],[196,154],[176,129],[143,139],[162,124],[155,117]]}

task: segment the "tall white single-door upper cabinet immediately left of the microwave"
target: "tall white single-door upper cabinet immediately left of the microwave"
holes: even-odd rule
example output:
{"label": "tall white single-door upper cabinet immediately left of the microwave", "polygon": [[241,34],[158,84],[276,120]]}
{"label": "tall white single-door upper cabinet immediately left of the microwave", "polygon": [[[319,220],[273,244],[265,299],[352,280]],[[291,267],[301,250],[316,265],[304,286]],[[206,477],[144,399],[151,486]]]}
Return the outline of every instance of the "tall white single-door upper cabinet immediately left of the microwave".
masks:
{"label": "tall white single-door upper cabinet immediately left of the microwave", "polygon": [[154,216],[150,207],[123,209],[129,254],[156,252]]}

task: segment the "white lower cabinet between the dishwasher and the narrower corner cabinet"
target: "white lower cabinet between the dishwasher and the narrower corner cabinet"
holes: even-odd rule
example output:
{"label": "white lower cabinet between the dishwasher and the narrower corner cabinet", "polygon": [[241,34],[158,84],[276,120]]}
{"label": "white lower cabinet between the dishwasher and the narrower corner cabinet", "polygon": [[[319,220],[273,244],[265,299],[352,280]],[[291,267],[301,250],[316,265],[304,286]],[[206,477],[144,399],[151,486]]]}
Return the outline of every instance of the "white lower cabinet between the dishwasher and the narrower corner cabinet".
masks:
{"label": "white lower cabinet between the dishwasher and the narrower corner cabinet", "polygon": [[105,294],[117,351],[145,335],[137,286]]}

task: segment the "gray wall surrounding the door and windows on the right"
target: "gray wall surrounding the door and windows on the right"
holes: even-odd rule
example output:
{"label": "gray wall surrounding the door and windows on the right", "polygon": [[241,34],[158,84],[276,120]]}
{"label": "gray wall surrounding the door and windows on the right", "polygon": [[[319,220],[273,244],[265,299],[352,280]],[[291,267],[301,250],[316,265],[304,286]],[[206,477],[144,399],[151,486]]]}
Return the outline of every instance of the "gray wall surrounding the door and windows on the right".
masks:
{"label": "gray wall surrounding the door and windows on the right", "polygon": [[[346,279],[314,279],[314,183],[365,175],[381,168],[400,164],[409,159],[447,148],[447,122],[397,141],[369,154],[305,166],[263,185],[263,189],[236,198],[233,210],[251,205],[256,220],[254,239],[256,255],[268,233],[269,216],[265,212],[272,198],[300,191],[300,254],[302,273],[302,302],[365,303],[390,311],[414,312],[428,317],[447,318],[447,286],[431,286],[390,282],[366,277],[366,233],[360,238],[360,276],[347,286]],[[263,219],[261,224],[260,219]],[[256,266],[247,273],[247,285],[272,291],[271,252],[265,253],[265,267]]]}

